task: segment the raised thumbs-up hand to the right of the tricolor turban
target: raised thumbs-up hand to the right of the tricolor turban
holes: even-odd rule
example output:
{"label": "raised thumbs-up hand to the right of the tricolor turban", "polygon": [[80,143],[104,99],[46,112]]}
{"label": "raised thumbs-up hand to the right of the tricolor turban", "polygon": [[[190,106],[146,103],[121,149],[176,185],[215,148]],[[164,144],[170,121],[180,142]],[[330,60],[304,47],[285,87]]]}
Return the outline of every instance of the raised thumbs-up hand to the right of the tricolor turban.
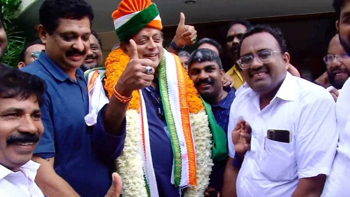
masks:
{"label": "raised thumbs-up hand to the right of the tricolor turban", "polygon": [[185,25],[185,15],[180,13],[180,22],[176,29],[174,42],[177,46],[183,47],[196,42],[197,31],[194,26]]}

